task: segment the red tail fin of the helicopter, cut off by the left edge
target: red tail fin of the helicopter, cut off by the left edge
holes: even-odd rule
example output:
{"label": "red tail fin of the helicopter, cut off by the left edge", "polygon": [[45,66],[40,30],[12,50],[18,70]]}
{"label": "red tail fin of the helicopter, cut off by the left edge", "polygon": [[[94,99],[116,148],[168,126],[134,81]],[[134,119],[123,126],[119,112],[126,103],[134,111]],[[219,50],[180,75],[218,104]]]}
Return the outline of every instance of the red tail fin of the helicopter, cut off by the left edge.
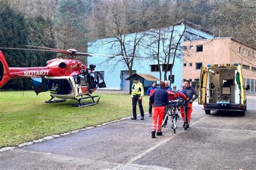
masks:
{"label": "red tail fin of the helicopter, cut off by the left edge", "polygon": [[10,70],[4,54],[0,51],[0,88],[10,79]]}

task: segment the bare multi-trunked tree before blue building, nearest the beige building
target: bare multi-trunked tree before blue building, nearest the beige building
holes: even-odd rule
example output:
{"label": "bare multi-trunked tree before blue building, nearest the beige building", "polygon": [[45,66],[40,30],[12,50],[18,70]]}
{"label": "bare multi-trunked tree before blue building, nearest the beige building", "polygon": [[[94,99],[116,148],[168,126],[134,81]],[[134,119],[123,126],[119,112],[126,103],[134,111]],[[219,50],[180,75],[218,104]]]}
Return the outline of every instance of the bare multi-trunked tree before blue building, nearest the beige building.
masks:
{"label": "bare multi-trunked tree before blue building, nearest the beige building", "polygon": [[157,4],[149,10],[147,15],[150,23],[154,27],[158,27],[158,29],[150,31],[149,36],[152,41],[148,43],[147,48],[149,48],[152,59],[158,62],[160,79],[160,65],[163,66],[164,80],[167,80],[167,72],[170,70],[172,73],[175,59],[181,57],[178,51],[182,51],[180,41],[184,38],[186,26],[184,25],[184,30],[178,34],[177,30],[174,29],[176,23],[187,15],[187,12],[182,10],[183,3],[183,1],[177,1]]}

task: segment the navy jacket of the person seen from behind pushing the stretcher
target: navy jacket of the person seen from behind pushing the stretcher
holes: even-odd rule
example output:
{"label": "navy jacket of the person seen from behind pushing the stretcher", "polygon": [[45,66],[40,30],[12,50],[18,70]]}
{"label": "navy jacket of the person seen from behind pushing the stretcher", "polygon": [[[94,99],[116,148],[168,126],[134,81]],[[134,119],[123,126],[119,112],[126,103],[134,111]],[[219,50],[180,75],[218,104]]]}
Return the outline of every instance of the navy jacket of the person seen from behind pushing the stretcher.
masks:
{"label": "navy jacket of the person seen from behind pushing the stretcher", "polygon": [[154,91],[154,93],[150,96],[150,102],[154,103],[154,107],[160,107],[168,104],[169,97],[165,88],[160,87]]}

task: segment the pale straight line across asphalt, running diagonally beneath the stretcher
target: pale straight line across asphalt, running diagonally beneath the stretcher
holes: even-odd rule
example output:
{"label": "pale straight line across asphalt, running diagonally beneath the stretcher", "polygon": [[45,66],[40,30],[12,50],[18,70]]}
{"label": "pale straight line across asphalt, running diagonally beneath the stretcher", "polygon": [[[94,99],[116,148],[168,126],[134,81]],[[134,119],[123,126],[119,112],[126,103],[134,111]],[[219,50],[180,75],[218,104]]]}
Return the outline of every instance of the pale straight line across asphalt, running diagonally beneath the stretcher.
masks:
{"label": "pale straight line across asphalt, running diagonally beneath the stretcher", "polygon": [[[198,119],[197,122],[192,123],[190,126],[193,126],[194,124],[198,123],[199,121],[201,121],[202,119],[204,119],[204,118],[206,118],[206,117],[208,117],[208,115],[206,115],[206,116],[204,116],[204,117]],[[181,133],[181,132],[183,132],[183,131],[184,131],[184,130],[181,130],[180,132],[177,132],[176,134],[179,134],[179,133]],[[149,152],[155,150],[156,148],[158,148],[159,146],[165,144],[167,141],[171,140],[172,138],[174,138],[174,137],[176,137],[176,136],[177,136],[177,135],[172,136],[172,137],[165,138],[164,140],[160,141],[160,143],[158,143],[157,145],[154,145],[153,147],[147,149],[147,150],[144,151],[143,153],[140,153],[140,154],[138,154],[136,157],[132,158],[130,161],[127,162],[127,164],[131,164],[132,162],[136,161],[137,159],[142,158],[145,154],[147,154],[147,153],[149,153]]]}

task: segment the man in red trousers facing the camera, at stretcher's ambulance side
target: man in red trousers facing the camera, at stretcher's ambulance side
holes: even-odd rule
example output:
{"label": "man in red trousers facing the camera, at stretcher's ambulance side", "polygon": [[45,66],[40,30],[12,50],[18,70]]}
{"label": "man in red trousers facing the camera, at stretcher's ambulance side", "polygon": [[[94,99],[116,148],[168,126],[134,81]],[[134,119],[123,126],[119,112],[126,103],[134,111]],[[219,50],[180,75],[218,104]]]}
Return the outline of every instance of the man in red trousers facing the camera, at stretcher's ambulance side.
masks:
{"label": "man in red trousers facing the camera, at stretcher's ambulance side", "polygon": [[[190,81],[189,80],[185,80],[184,82],[184,87],[182,88],[182,91],[185,91],[188,94],[188,104],[187,104],[187,128],[190,128],[190,119],[191,119],[191,113],[192,113],[192,103],[194,100],[197,99],[198,94],[197,91],[190,86]],[[194,96],[194,97],[193,97]],[[181,107],[180,108],[180,114],[181,117],[183,118],[184,124],[183,126],[185,126],[185,114],[184,114],[184,108]]]}

